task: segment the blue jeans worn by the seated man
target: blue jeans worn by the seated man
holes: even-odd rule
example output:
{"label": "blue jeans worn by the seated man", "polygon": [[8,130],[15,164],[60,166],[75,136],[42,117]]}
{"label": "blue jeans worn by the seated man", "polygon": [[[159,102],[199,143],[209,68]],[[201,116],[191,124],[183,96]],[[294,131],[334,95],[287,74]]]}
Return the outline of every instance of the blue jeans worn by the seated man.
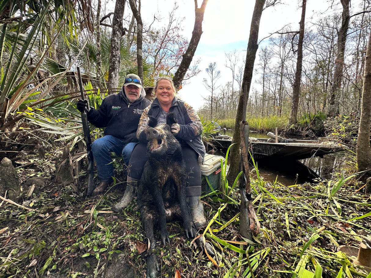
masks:
{"label": "blue jeans worn by the seated man", "polygon": [[126,166],[129,165],[129,159],[135,144],[134,142],[127,144],[125,140],[121,140],[112,135],[98,138],[92,143],[92,152],[101,182],[112,181],[112,176],[114,175],[114,167],[110,152],[115,152],[117,155],[121,153],[126,168]]}

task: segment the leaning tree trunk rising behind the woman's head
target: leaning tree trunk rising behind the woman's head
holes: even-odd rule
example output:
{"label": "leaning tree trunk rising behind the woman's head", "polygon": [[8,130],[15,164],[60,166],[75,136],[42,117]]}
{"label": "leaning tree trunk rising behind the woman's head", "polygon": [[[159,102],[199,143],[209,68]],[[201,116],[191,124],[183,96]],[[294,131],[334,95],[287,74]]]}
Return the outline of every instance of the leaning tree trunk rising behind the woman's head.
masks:
{"label": "leaning tree trunk rising behind the woman's head", "polygon": [[204,13],[206,9],[206,4],[209,0],[203,0],[201,7],[198,8],[197,0],[194,0],[194,11],[195,11],[195,20],[194,20],[194,27],[192,31],[192,37],[188,44],[187,51],[183,55],[182,62],[180,63],[180,66],[178,67],[177,72],[175,72],[173,77],[174,86],[176,89],[179,89],[183,78],[185,76],[185,73],[187,73],[187,70],[192,62],[194,53],[196,52],[198,43],[200,42],[201,35],[202,35],[202,21],[204,20]]}

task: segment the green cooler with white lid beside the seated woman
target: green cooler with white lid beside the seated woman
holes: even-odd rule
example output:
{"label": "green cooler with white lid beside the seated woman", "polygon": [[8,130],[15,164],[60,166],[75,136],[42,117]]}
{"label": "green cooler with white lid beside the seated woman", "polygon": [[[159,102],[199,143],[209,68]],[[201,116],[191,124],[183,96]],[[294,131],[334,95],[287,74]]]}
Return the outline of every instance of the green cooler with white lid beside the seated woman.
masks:
{"label": "green cooler with white lid beside the seated woman", "polygon": [[[225,163],[223,156],[209,155],[206,154],[204,158],[204,164],[201,164],[201,175],[202,175],[202,188],[206,193],[213,192],[214,190],[220,189],[221,185],[221,163],[220,159]],[[209,184],[206,181],[209,181]]]}

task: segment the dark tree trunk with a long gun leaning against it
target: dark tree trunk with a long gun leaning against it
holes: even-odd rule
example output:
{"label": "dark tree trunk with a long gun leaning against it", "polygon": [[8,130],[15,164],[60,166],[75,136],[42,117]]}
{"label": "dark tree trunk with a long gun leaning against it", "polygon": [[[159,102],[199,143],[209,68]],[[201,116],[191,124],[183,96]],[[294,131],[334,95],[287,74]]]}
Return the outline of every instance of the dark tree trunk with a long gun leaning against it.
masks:
{"label": "dark tree trunk with a long gun leaning against it", "polygon": [[[264,8],[265,0],[256,0],[255,7],[253,11],[253,16],[251,19],[251,26],[250,26],[250,36],[249,42],[247,43],[247,53],[246,53],[246,62],[245,62],[245,69],[243,73],[243,81],[242,84],[246,84],[247,86],[247,97],[246,100],[249,98],[251,80],[253,77],[253,70],[254,70],[254,62],[256,57],[256,51],[258,49],[257,39],[259,35],[259,25],[260,25],[260,18],[262,17],[263,8]],[[236,122],[234,123],[234,131],[233,131],[233,139],[230,152],[230,167],[229,172],[227,175],[227,180],[229,184],[233,184],[234,180],[237,178],[239,173],[239,163],[240,163],[240,122],[242,120],[243,114],[243,91],[244,86],[242,86],[240,98],[238,102],[237,108],[237,115],[236,115]],[[248,173],[246,173],[248,175]]]}

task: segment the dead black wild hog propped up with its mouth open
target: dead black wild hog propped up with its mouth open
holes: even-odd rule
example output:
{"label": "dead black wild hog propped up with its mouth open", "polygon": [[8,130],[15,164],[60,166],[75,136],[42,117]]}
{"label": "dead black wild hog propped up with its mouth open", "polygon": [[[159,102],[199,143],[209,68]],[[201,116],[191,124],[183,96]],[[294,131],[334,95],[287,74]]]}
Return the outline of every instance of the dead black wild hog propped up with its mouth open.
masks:
{"label": "dead black wild hog propped up with its mouth open", "polygon": [[[154,249],[156,239],[154,226],[159,228],[161,243],[170,244],[166,223],[183,219],[183,228],[188,238],[198,235],[192,222],[186,202],[185,163],[180,143],[171,133],[170,126],[175,123],[174,113],[168,113],[166,123],[157,124],[157,119],[150,116],[146,130],[148,161],[145,163],[138,187],[138,208],[141,221],[150,246],[147,257],[147,277],[157,277],[160,271]],[[203,240],[198,238],[196,244],[203,247]],[[209,254],[213,249],[206,245]]]}

